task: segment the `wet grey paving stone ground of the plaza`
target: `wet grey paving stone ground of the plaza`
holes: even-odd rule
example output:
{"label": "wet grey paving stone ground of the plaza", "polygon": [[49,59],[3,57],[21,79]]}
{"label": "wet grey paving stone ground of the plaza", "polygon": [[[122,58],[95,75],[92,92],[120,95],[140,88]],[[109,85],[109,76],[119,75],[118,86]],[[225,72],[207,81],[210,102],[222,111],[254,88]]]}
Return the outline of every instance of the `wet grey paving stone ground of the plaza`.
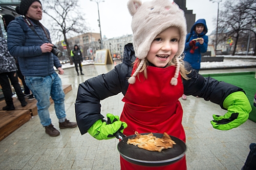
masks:
{"label": "wet grey paving stone ground of the plaza", "polygon": [[[76,75],[75,68],[64,69],[64,75],[60,75],[63,85],[72,85],[65,96],[67,119],[76,120],[74,103],[78,85],[113,67],[114,64],[85,65],[85,75],[80,76]],[[123,95],[118,94],[102,101],[102,114],[120,116],[124,105],[122,98]],[[256,142],[256,123],[247,120],[229,131],[215,130],[210,123],[212,115],[225,114],[225,110],[192,96],[180,102],[184,110],[182,123],[187,136],[188,170],[241,170],[250,143]],[[35,116],[0,141],[0,170],[120,170],[118,139],[99,141],[88,134],[81,136],[78,128],[59,129],[54,104],[49,111],[61,135],[45,134],[39,117]]]}

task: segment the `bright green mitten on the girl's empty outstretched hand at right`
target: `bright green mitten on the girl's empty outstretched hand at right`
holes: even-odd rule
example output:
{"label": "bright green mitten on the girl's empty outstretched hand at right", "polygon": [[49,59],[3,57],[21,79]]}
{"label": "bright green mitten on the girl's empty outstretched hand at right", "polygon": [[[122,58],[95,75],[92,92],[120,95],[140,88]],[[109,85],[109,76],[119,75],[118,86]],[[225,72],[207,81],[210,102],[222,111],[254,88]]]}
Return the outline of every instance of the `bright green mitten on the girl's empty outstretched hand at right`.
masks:
{"label": "bright green mitten on the girl's empty outstretched hand at right", "polygon": [[223,107],[228,110],[224,116],[213,115],[211,124],[219,130],[230,130],[243,124],[252,111],[250,102],[246,95],[241,92],[230,94],[223,102]]}

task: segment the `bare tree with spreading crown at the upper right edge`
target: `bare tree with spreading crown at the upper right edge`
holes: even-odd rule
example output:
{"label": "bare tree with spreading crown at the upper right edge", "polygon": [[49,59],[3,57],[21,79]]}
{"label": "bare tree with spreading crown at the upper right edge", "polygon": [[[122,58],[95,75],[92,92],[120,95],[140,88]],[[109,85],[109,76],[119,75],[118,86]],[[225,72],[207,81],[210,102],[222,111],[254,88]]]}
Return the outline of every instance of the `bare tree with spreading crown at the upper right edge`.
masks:
{"label": "bare tree with spreading crown at the upper right edge", "polygon": [[[255,33],[256,31],[255,6],[255,0],[226,1],[224,4],[225,9],[220,12],[220,35],[222,35],[222,40],[230,36],[234,38],[235,48],[233,51],[233,55],[235,55],[236,47],[238,45],[240,36],[246,36],[245,33],[248,33],[249,31],[253,33]],[[240,39],[243,38],[244,37],[241,37]],[[256,52],[254,53],[254,55],[256,55]]]}

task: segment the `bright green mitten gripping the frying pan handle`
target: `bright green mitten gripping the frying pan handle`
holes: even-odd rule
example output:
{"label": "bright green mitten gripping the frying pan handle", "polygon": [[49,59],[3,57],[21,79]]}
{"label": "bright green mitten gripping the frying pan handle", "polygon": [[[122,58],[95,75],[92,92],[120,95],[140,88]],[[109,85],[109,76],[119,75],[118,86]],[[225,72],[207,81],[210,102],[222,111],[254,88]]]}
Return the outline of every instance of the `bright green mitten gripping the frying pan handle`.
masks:
{"label": "bright green mitten gripping the frying pan handle", "polygon": [[88,133],[98,140],[114,138],[117,131],[124,132],[127,123],[119,120],[119,116],[107,114],[107,122],[104,119],[97,120],[89,129]]}

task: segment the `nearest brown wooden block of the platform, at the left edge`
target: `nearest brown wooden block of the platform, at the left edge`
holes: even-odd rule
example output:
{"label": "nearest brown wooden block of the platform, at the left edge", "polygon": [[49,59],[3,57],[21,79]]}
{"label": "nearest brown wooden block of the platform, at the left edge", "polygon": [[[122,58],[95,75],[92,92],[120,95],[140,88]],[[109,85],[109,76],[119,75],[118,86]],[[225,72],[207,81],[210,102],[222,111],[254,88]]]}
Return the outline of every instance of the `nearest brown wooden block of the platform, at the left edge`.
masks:
{"label": "nearest brown wooden block of the platform, at the left edge", "polygon": [[29,110],[0,111],[0,141],[30,120]]}

